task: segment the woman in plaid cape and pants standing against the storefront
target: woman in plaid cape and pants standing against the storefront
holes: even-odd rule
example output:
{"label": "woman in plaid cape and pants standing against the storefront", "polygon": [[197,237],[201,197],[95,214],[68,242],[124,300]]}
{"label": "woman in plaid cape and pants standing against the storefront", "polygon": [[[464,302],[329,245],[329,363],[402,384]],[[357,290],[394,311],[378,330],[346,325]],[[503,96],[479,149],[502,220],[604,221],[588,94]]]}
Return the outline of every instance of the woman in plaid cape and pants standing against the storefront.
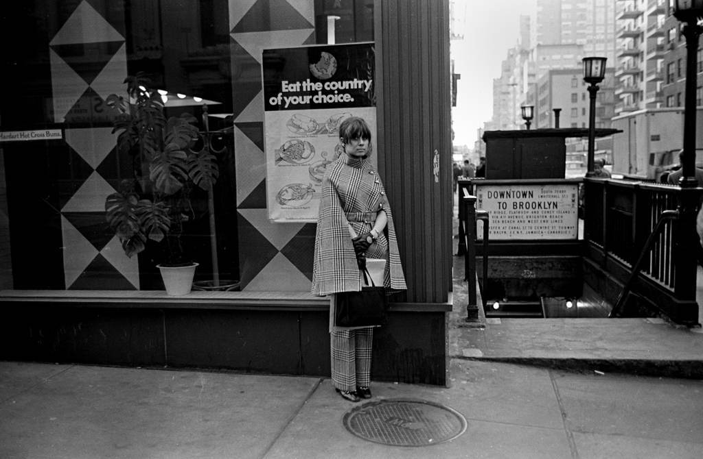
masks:
{"label": "woman in plaid cape and pants standing against the storefront", "polygon": [[369,399],[373,327],[335,326],[335,293],[361,290],[366,257],[386,260],[387,293],[406,289],[393,217],[385,190],[368,157],[371,132],[359,117],[340,126],[344,147],[327,166],[315,235],[312,293],[330,299],[332,383],[349,401]]}

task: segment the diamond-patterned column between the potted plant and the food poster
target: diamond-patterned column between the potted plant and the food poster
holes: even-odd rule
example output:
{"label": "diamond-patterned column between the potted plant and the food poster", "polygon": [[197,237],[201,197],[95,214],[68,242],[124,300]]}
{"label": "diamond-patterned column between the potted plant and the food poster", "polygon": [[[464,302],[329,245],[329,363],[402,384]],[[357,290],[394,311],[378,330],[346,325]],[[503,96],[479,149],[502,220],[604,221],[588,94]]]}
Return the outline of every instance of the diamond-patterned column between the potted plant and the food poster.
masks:
{"label": "diamond-patterned column between the potted plant and the food poster", "polygon": [[250,65],[250,72],[232,81],[243,290],[310,289],[315,225],[272,223],[266,213],[260,62],[262,48],[311,44],[314,23],[314,0],[230,0],[232,52],[240,57],[232,62]]}

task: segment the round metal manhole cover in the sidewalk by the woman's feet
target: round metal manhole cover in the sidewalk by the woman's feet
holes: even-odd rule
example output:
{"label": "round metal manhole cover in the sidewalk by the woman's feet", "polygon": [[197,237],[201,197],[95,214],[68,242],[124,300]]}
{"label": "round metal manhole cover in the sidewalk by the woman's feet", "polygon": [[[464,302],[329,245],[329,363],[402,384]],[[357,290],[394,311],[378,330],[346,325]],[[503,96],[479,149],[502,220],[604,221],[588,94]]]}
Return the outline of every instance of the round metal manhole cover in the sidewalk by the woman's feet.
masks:
{"label": "round metal manhole cover in the sidewalk by the woman's feet", "polygon": [[368,402],[345,413],[342,423],[356,437],[392,446],[434,445],[466,430],[466,420],[457,411],[413,399]]}

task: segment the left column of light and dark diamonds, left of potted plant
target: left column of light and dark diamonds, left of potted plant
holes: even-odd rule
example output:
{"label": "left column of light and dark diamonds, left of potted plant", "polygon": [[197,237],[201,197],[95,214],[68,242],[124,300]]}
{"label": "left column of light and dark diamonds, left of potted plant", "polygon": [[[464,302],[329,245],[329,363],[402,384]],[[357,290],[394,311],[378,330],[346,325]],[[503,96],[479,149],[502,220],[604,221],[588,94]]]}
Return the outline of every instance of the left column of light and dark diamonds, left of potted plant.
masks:
{"label": "left column of light and dark diamonds, left of potted plant", "polygon": [[[105,198],[115,192],[108,180],[120,175],[108,164],[115,162],[112,119],[88,108],[123,89],[127,54],[117,28],[124,27],[113,27],[99,11],[105,5],[98,2],[96,9],[93,4],[77,4],[49,42],[54,121],[65,123],[72,158],[62,171],[66,184],[60,185],[65,286],[138,289],[136,257],[124,255],[105,222]],[[84,55],[91,55],[90,66],[84,65]]]}

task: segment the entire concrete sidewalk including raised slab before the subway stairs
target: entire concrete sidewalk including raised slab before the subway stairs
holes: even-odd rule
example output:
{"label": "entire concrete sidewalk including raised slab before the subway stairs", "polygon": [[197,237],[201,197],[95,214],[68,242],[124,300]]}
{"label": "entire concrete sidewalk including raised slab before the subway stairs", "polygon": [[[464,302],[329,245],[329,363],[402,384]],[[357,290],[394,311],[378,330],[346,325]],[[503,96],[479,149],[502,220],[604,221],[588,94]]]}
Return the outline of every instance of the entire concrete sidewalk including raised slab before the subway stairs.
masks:
{"label": "entire concrete sidewalk including raised slab before the subway stairs", "polygon": [[449,387],[375,381],[370,401],[449,407],[466,420],[451,441],[354,436],[342,419],[370,402],[328,378],[0,361],[0,458],[703,457],[703,334],[651,319],[468,324],[458,257],[453,302]]}

